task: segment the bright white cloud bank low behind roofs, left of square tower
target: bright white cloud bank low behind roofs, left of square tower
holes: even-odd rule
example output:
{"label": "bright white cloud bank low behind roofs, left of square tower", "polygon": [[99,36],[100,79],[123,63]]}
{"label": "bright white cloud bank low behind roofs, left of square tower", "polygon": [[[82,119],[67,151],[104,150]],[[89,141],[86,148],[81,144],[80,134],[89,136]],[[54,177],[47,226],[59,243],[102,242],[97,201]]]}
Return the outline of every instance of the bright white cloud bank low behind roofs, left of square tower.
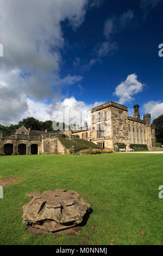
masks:
{"label": "bright white cloud bank low behind roofs, left of square tower", "polygon": [[[34,117],[41,121],[53,120],[69,124],[78,124],[83,126],[86,120],[91,125],[91,108],[101,105],[104,102],[95,102],[86,104],[84,101],[77,101],[74,97],[66,97],[62,101],[58,101],[47,105],[46,103],[33,101],[27,98],[26,103],[28,110],[21,115],[21,120],[26,117]],[[57,129],[57,128],[56,128]]]}

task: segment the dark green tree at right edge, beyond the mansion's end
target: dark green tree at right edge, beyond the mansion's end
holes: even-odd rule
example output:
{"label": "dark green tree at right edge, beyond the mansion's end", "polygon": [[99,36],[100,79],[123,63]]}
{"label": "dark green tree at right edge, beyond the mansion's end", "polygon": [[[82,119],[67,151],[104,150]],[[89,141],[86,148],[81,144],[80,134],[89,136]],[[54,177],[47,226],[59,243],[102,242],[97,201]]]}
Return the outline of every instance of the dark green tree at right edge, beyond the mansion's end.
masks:
{"label": "dark green tree at right edge, beyond the mansion's end", "polygon": [[163,115],[155,118],[152,123],[155,125],[156,142],[163,144]]}

